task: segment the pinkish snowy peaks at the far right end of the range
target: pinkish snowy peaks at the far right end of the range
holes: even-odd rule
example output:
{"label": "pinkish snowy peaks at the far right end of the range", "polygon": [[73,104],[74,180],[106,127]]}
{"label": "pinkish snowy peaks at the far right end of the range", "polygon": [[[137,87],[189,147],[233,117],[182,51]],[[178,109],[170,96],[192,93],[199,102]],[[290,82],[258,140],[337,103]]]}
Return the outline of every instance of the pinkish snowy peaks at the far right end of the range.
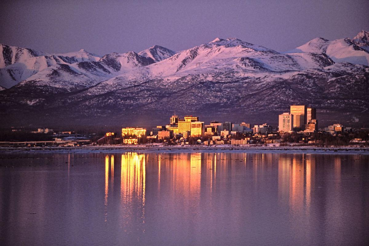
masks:
{"label": "pinkish snowy peaks at the far right end of the range", "polygon": [[352,64],[369,65],[369,52],[356,45],[364,44],[366,32],[359,33],[354,38],[355,42],[349,38],[342,38],[333,41],[324,38],[314,38],[296,49],[287,51],[286,54],[321,52],[327,54],[334,62],[350,62]]}

